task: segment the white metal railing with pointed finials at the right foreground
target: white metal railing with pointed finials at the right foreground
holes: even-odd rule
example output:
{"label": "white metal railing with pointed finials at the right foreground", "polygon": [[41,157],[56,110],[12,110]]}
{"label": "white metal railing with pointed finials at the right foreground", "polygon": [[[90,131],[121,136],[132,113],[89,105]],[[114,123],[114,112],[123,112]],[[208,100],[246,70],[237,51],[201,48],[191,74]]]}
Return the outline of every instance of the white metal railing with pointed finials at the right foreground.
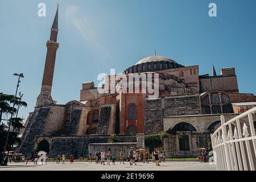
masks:
{"label": "white metal railing with pointed finials at the right foreground", "polygon": [[221,171],[255,171],[256,136],[253,115],[256,107],[225,122],[212,135],[214,163]]}

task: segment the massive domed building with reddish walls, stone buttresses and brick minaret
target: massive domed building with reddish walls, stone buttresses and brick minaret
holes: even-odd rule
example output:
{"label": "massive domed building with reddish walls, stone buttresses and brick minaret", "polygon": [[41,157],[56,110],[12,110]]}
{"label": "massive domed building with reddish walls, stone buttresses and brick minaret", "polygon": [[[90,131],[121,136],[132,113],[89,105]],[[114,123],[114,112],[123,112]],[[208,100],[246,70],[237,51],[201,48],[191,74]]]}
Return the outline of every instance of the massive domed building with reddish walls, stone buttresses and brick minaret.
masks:
{"label": "massive domed building with reddish walls, stone buttresses and brick minaret", "polygon": [[221,115],[228,121],[256,106],[254,94],[239,92],[234,67],[221,68],[220,75],[214,67],[211,75],[199,75],[199,65],[181,65],[156,53],[131,65],[123,75],[157,73],[158,97],[150,98],[147,92],[99,93],[91,81],[82,83],[79,101],[57,104],[51,90],[58,32],[57,9],[46,44],[42,88],[16,148],[26,156],[44,150],[53,158],[58,154],[80,158],[88,156],[89,144],[108,143],[110,134],[116,134],[121,143],[129,143],[136,142],[133,136],[137,133],[166,131],[162,148],[166,157],[192,157],[197,147],[209,146],[210,134],[220,126]]}

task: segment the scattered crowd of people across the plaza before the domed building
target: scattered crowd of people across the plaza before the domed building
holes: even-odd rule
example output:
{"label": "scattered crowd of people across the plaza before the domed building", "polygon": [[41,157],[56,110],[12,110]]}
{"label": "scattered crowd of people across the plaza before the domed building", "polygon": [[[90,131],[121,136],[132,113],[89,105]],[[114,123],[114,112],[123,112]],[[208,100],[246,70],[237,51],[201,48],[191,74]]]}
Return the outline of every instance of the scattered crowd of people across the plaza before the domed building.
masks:
{"label": "scattered crowd of people across the plaza before the domed building", "polygon": [[[127,155],[127,156],[126,156]],[[38,161],[41,160],[42,163],[46,164],[47,162],[47,155],[44,156],[44,158],[40,158],[38,152],[35,152],[34,159],[31,161],[34,162],[35,165],[38,164]],[[159,148],[155,148],[154,151],[151,152],[151,154],[148,154],[146,150],[138,150],[133,147],[130,148],[129,152],[125,154],[125,151],[121,150],[119,153],[119,163],[125,164],[125,162],[129,162],[130,166],[133,166],[133,164],[136,166],[137,162],[142,163],[149,163],[149,159],[152,160],[153,163],[155,163],[156,166],[160,166],[159,163],[166,162],[166,156],[164,151],[160,151]],[[125,158],[126,157],[126,158]],[[65,154],[63,155],[57,155],[56,163],[65,164],[67,160],[67,156]],[[92,163],[93,160],[96,164],[101,165],[115,165],[115,155],[112,153],[111,149],[109,148],[108,151],[102,150],[101,152],[96,152],[96,154],[93,156],[91,153],[88,156],[89,163]],[[201,151],[200,156],[197,157],[197,160],[199,162],[208,162],[209,160],[209,153],[208,151]],[[25,157],[25,155],[13,155],[13,156],[5,156],[4,158],[5,163],[9,161],[17,162],[17,163],[28,163],[29,159]],[[69,162],[72,164],[74,161],[74,156],[71,154],[69,156]]]}

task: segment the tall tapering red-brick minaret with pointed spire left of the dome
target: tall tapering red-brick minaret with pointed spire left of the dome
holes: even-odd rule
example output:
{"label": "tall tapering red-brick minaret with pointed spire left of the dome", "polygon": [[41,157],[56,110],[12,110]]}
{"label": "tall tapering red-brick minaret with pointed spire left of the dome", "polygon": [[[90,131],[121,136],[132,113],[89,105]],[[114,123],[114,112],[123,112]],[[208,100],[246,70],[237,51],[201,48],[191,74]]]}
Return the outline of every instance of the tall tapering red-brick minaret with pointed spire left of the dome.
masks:
{"label": "tall tapering red-brick minaret with pointed spire left of the dome", "polygon": [[57,7],[56,15],[52,23],[50,39],[46,43],[46,46],[47,46],[46,63],[44,65],[44,75],[43,75],[41,92],[37,98],[36,107],[53,104],[53,100],[51,96],[52,80],[53,80],[56,52],[57,52],[57,49],[59,48],[59,43],[57,43],[57,34],[59,31],[58,30],[58,11],[59,11],[59,6]]}

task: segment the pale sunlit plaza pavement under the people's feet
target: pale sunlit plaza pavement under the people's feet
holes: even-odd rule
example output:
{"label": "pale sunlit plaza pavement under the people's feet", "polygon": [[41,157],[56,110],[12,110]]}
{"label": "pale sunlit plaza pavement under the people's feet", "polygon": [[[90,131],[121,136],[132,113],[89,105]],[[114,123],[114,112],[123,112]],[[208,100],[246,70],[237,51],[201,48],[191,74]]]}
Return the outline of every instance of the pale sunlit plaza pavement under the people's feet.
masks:
{"label": "pale sunlit plaza pavement under the people's feet", "polygon": [[56,164],[48,162],[47,165],[27,165],[11,163],[7,167],[0,167],[0,171],[216,171],[215,165],[199,162],[166,162],[160,163],[161,166],[155,166],[152,162],[149,164],[137,163],[137,166],[130,166],[129,163],[120,164],[115,162],[115,166],[75,162],[73,164]]}

